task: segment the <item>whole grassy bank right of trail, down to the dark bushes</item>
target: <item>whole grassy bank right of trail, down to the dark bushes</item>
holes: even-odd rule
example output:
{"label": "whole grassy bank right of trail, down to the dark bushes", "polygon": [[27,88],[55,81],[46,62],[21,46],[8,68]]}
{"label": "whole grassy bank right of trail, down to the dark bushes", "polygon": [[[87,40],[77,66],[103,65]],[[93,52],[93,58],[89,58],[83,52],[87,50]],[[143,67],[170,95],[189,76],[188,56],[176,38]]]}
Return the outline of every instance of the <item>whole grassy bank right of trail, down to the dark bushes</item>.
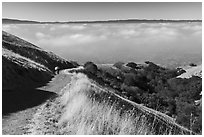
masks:
{"label": "whole grassy bank right of trail, down to the dark bushes", "polygon": [[27,134],[189,134],[152,111],[104,90],[83,74],[74,74],[26,128]]}

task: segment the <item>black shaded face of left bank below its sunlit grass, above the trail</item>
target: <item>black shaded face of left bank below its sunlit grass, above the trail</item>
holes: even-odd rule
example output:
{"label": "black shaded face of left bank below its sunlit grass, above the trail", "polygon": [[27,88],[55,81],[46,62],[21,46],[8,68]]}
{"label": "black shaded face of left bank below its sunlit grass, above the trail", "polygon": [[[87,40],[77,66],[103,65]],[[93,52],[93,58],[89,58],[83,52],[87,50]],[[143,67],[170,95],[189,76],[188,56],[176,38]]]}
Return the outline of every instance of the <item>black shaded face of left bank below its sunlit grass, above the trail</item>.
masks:
{"label": "black shaded face of left bank below its sunlit grass, above the trail", "polygon": [[[17,60],[17,59],[16,59]],[[23,64],[24,63],[24,64]],[[2,57],[2,88],[3,91],[16,88],[38,87],[52,78],[49,71],[40,71],[37,68],[25,67],[26,60],[14,62],[14,59]]]}

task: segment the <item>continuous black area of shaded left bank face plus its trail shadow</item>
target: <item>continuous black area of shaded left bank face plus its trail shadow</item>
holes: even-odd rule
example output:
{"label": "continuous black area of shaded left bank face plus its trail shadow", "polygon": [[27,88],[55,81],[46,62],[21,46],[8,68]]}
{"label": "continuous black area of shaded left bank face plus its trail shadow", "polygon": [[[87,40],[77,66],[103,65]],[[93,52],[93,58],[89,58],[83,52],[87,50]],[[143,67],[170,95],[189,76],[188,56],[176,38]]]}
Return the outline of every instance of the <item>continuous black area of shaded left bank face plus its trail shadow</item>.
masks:
{"label": "continuous black area of shaded left bank face plus its trail shadow", "polygon": [[2,57],[2,114],[7,115],[43,103],[56,95],[37,89],[53,77],[51,73],[35,68],[25,68]]}

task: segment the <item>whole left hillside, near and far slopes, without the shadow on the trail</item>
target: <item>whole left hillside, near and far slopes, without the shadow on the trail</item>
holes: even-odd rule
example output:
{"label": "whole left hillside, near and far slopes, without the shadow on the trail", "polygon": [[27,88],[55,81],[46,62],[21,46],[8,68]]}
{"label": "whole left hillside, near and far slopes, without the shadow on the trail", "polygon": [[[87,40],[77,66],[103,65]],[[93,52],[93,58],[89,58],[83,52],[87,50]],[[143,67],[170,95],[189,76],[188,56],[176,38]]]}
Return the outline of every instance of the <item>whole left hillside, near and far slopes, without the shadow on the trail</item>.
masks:
{"label": "whole left hillside, near and far slopes, without the shadow on the trail", "polygon": [[56,66],[65,69],[73,68],[76,64],[73,65],[12,34],[2,32],[3,89],[45,83],[54,75]]}

